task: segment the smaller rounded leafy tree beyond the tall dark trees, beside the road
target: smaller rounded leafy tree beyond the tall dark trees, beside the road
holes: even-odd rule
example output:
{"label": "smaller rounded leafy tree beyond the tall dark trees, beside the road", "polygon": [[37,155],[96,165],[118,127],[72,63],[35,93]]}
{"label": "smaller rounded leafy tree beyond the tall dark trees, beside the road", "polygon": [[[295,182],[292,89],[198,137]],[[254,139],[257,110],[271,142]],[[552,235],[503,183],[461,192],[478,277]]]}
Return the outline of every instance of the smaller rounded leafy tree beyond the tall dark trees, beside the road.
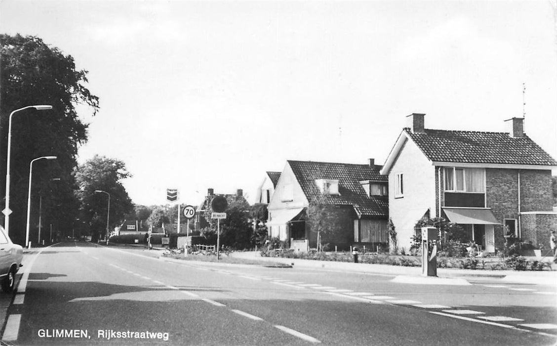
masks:
{"label": "smaller rounded leafy tree beyond the tall dark trees, beside the road", "polygon": [[133,203],[122,184],[122,180],[129,177],[131,174],[126,170],[124,162],[100,155],[95,155],[77,167],[75,179],[81,203],[80,220],[90,226],[93,241],[105,235],[109,195],[111,229],[120,225],[125,216],[133,212]]}

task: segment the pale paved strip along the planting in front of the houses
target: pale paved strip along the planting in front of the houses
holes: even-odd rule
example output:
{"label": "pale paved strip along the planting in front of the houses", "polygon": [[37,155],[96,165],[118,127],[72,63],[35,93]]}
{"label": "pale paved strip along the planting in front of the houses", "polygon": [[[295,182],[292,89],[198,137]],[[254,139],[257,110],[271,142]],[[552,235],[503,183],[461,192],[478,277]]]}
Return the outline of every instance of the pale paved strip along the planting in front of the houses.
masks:
{"label": "pale paved strip along the planting in front of the houses", "polygon": [[[262,257],[259,252],[246,251],[246,252],[232,252],[229,256],[279,262],[287,265],[294,265],[300,267],[314,267],[335,270],[359,271],[369,272],[374,274],[385,275],[407,275],[407,276],[421,276],[421,267],[403,267],[392,266],[383,264],[363,264],[363,263],[350,263],[350,262],[331,262],[331,261],[316,261],[316,260],[300,260],[300,259],[287,259],[282,257]],[[523,282],[541,285],[556,285],[557,286],[557,271],[515,271],[515,270],[471,270],[471,269],[456,269],[456,268],[438,268],[438,277],[466,277],[466,276],[485,276],[497,277],[504,281]]]}

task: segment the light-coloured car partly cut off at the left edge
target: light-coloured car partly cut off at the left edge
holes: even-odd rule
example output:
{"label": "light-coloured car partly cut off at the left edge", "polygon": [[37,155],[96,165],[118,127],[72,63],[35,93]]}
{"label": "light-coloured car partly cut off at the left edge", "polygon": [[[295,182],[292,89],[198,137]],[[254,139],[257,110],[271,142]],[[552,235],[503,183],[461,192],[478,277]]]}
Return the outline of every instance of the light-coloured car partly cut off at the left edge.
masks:
{"label": "light-coloured car partly cut off at the left edge", "polygon": [[14,244],[0,226],[0,287],[4,292],[13,291],[16,285],[16,274],[22,266],[23,247]]}

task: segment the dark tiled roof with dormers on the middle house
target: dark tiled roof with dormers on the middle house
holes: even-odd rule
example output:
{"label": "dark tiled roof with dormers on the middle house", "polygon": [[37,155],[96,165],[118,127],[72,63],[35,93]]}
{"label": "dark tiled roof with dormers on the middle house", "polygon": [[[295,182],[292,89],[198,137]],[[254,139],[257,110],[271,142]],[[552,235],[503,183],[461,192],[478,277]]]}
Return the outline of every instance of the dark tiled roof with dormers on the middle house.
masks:
{"label": "dark tiled roof with dormers on the middle house", "polygon": [[336,179],[339,181],[339,195],[325,195],[329,203],[352,206],[359,216],[388,215],[389,198],[368,197],[360,184],[360,181],[387,183],[388,177],[379,174],[381,166],[293,160],[289,160],[288,163],[309,201],[321,195],[315,183],[316,179]]}

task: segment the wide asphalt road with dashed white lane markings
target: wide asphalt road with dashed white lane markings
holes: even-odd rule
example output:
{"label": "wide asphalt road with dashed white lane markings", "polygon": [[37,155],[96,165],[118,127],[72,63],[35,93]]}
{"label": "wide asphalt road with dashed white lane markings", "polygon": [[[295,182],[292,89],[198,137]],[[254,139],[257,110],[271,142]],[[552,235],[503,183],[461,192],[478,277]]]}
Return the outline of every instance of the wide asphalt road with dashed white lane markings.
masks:
{"label": "wide asphalt road with dashed white lane markings", "polygon": [[7,309],[6,344],[557,341],[554,286],[408,284],[356,272],[163,261],[157,251],[85,242],[33,252]]}

